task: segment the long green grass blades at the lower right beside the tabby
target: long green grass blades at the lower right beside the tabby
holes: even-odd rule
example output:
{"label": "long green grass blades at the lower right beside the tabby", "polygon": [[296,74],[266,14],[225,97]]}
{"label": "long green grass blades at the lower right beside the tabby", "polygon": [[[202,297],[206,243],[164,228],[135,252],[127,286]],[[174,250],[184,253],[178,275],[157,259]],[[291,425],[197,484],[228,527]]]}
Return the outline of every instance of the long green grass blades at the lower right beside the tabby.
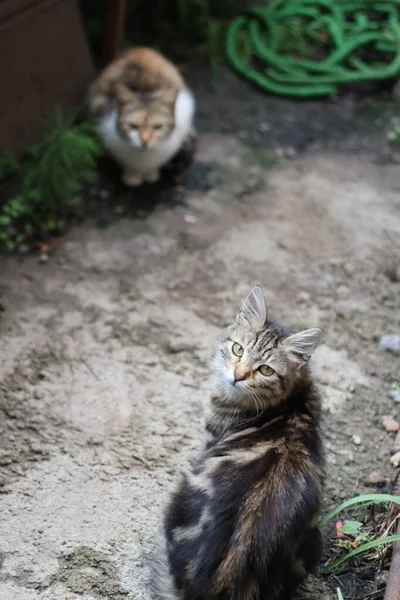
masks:
{"label": "long green grass blades at the lower right beside the tabby", "polygon": [[[400,496],[392,496],[390,494],[364,494],[362,496],[356,496],[355,498],[346,500],[345,502],[337,506],[328,515],[326,515],[323,519],[321,519],[321,525],[325,525],[330,519],[332,519],[332,517],[346,509],[349,509],[350,507],[365,507],[379,503],[392,503],[400,506]],[[397,519],[395,519],[394,522],[396,520]],[[353,549],[350,550],[349,548],[346,548],[346,554],[340,556],[339,558],[331,562],[328,566],[326,566],[323,569],[323,572],[332,571],[334,568],[338,567],[349,558],[352,558],[353,556],[356,556],[361,552],[366,552],[367,550],[371,550],[373,548],[381,548],[382,546],[386,546],[387,544],[392,544],[394,542],[400,541],[400,535],[388,535],[388,531],[390,528],[386,530],[384,535],[382,535],[378,539],[371,539],[373,536],[371,536],[370,532],[362,532],[362,525],[363,524],[359,521],[347,521],[344,523],[344,525],[340,528],[340,531],[342,533],[346,533],[347,531],[348,534],[356,534],[357,537],[359,537],[361,534],[361,538],[357,539],[356,537],[357,543],[351,546]],[[361,543],[361,545],[359,545],[359,543]]]}

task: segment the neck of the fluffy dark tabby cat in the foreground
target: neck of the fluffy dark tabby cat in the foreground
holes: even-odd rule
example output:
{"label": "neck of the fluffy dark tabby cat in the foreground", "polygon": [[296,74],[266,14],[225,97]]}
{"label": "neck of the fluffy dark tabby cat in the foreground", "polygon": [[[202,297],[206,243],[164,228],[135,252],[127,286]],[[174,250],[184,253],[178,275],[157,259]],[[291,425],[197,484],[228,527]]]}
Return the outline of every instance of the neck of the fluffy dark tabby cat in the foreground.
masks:
{"label": "neck of the fluffy dark tabby cat in the foreground", "polygon": [[293,386],[285,399],[262,411],[259,407],[255,407],[254,410],[240,410],[226,406],[224,395],[217,388],[210,398],[205,415],[208,445],[246,429],[259,429],[276,419],[286,418],[293,412],[303,412],[313,420],[320,418],[319,395],[307,376]]}

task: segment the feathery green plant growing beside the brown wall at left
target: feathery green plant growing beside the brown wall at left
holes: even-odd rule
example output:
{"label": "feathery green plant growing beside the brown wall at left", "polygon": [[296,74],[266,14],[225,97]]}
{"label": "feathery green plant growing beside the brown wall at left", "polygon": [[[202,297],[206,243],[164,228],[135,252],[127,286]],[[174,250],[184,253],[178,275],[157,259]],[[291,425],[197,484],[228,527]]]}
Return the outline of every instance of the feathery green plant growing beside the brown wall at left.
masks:
{"label": "feathery green plant growing beside the brown wall at left", "polygon": [[76,123],[75,114],[56,109],[42,142],[28,148],[20,163],[10,153],[3,155],[0,177],[18,172],[21,184],[0,208],[0,244],[14,251],[32,237],[46,239],[60,228],[66,212],[78,213],[76,194],[101,152],[90,123]]}

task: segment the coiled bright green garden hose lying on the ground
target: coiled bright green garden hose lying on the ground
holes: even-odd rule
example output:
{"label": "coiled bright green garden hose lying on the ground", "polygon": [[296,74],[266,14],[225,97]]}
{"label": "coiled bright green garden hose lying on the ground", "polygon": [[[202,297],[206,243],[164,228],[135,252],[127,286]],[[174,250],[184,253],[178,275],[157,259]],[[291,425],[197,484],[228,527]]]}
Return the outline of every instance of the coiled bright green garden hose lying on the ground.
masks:
{"label": "coiled bright green garden hose lying on the ground", "polygon": [[242,76],[286,96],[395,78],[400,0],[272,0],[232,21],[226,53]]}

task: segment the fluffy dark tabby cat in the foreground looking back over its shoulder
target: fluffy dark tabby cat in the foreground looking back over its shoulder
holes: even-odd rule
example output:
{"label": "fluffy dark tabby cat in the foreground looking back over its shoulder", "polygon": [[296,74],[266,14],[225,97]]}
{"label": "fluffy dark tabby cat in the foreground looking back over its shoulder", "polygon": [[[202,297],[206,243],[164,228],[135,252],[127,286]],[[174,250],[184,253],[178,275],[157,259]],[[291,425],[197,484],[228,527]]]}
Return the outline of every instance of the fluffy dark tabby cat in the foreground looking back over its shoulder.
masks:
{"label": "fluffy dark tabby cat in the foreground looking back over its shoulder", "polygon": [[243,302],[216,351],[203,450],[166,511],[156,597],[289,600],[318,564],[320,334],[273,323],[259,288]]}

